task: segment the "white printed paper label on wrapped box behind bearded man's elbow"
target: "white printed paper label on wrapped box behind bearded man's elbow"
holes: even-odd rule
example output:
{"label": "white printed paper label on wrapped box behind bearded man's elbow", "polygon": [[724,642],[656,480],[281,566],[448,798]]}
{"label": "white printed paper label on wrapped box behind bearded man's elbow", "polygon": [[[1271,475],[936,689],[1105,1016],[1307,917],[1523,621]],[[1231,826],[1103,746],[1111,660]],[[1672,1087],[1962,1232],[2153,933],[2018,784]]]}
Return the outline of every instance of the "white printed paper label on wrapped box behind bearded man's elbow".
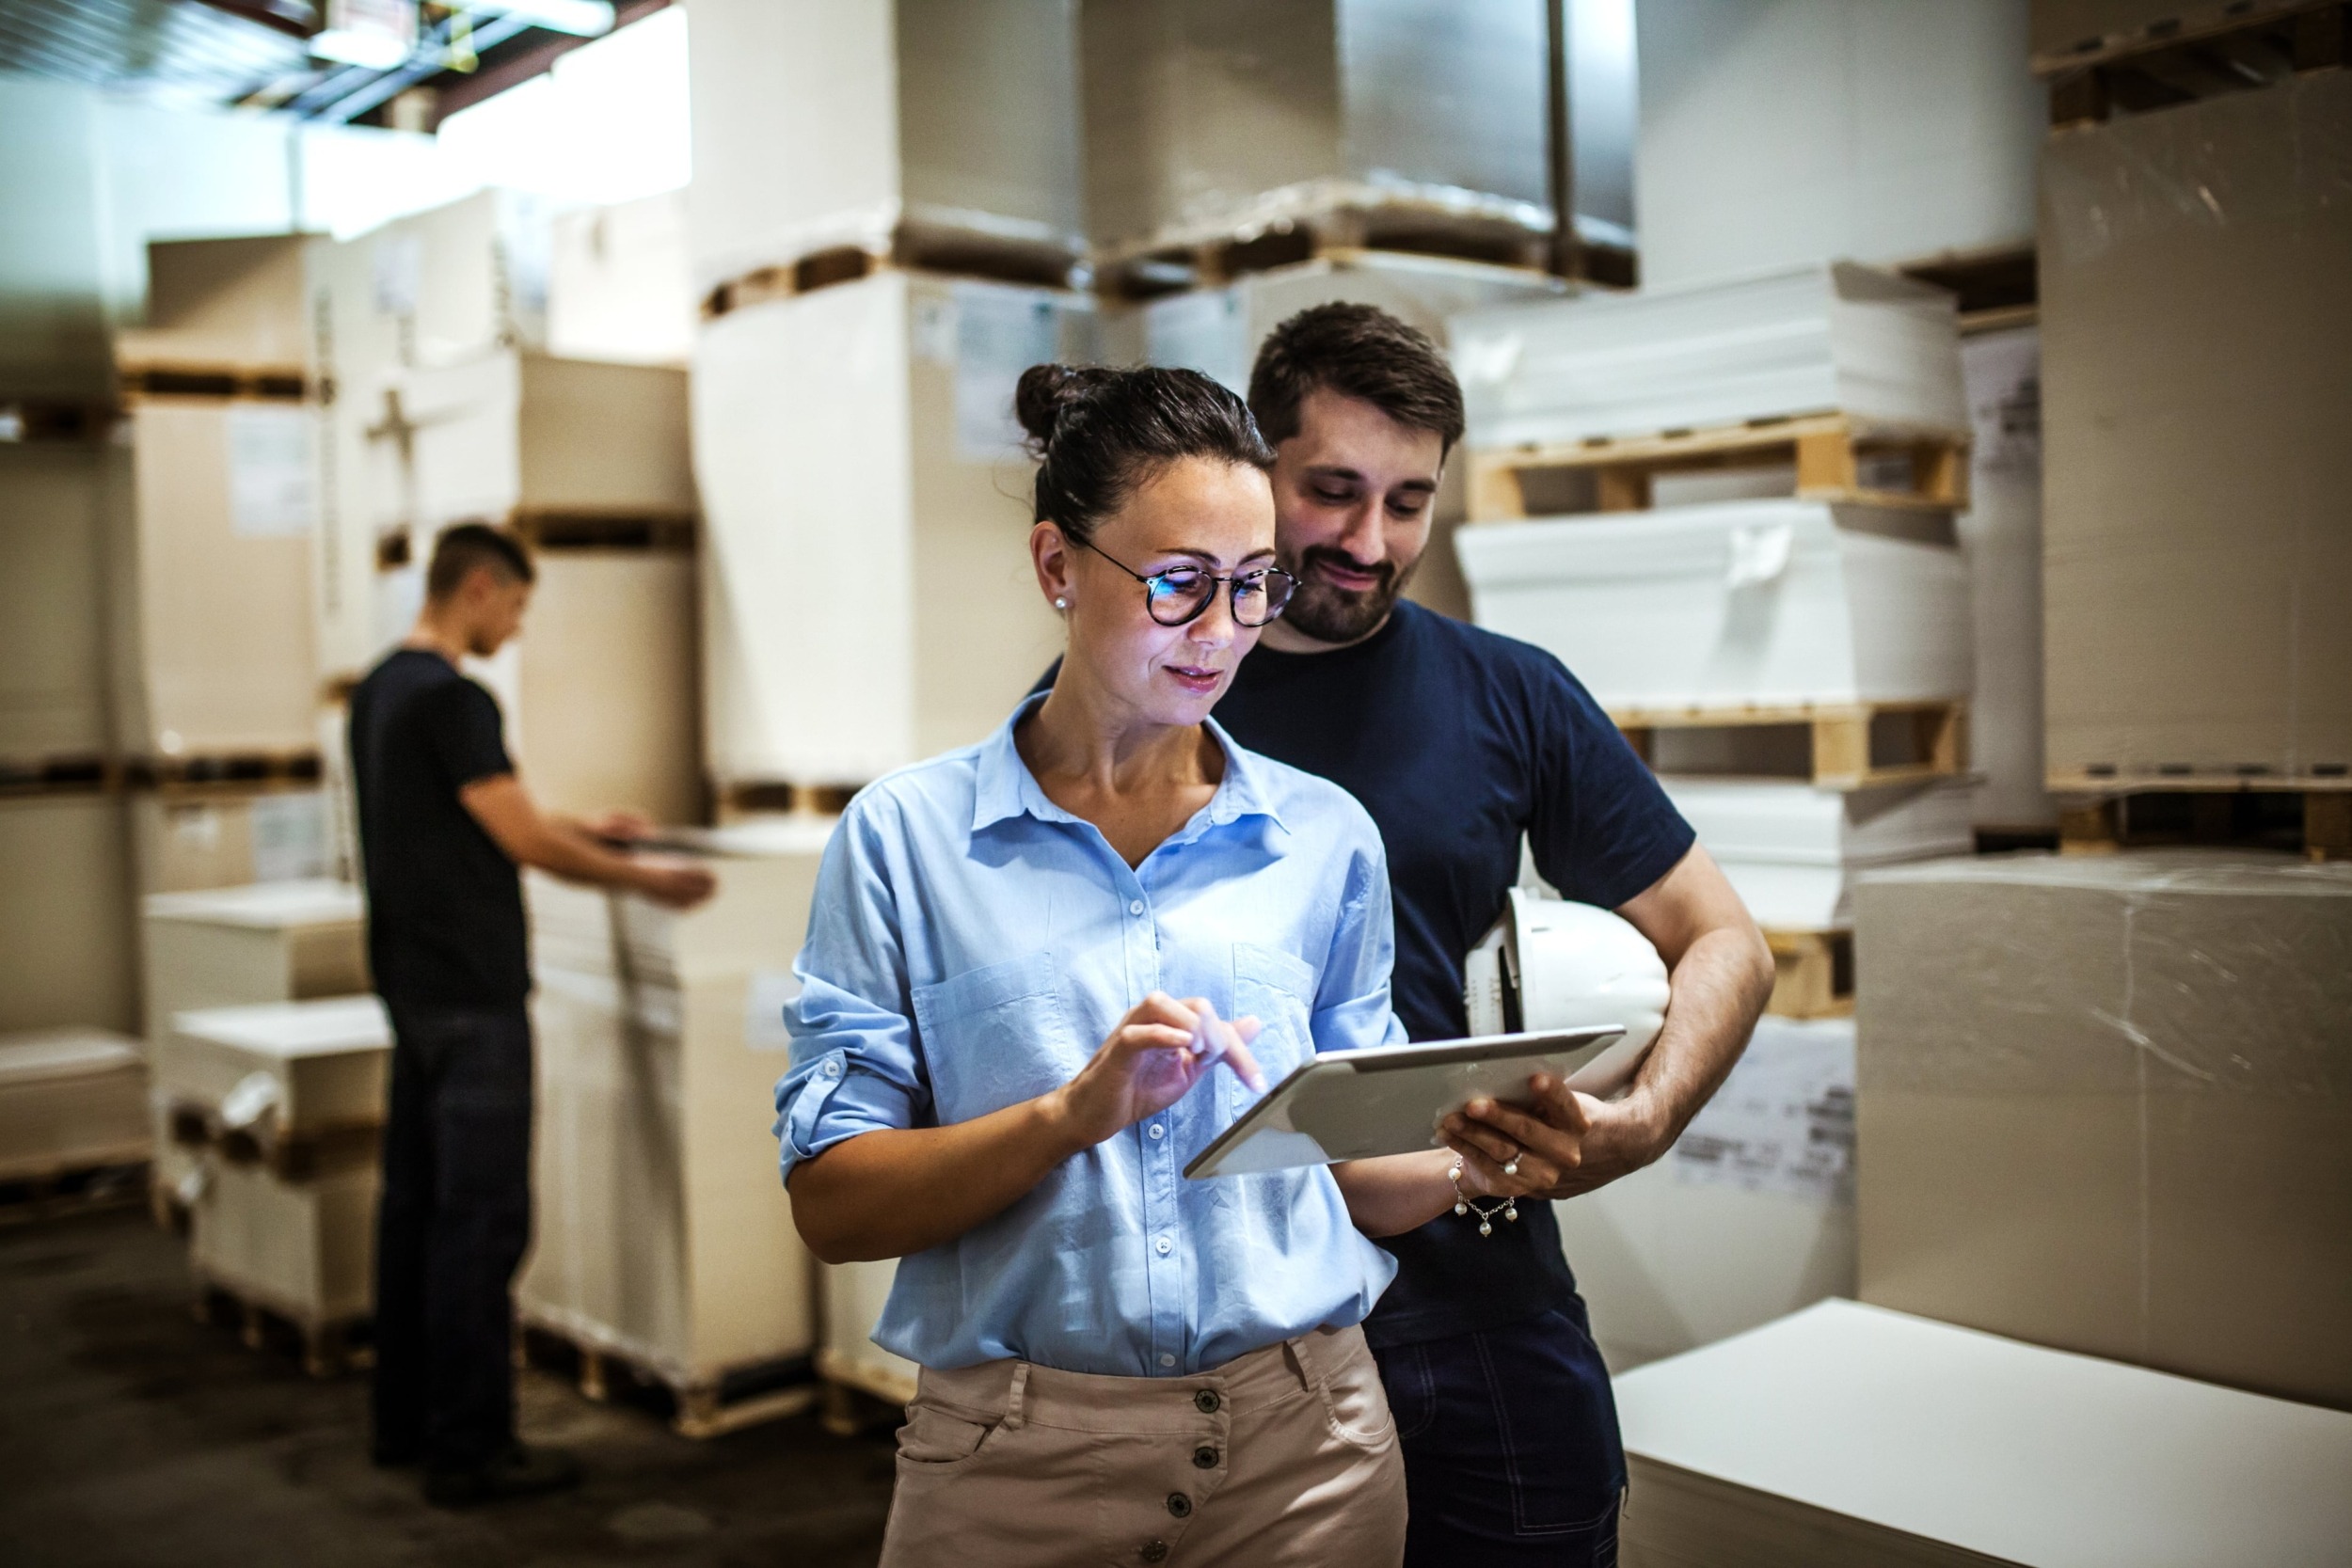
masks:
{"label": "white printed paper label on wrapped box behind bearded man's elbow", "polygon": [[1853,1201],[1853,1032],[1766,1020],[1675,1145],[1675,1178]]}

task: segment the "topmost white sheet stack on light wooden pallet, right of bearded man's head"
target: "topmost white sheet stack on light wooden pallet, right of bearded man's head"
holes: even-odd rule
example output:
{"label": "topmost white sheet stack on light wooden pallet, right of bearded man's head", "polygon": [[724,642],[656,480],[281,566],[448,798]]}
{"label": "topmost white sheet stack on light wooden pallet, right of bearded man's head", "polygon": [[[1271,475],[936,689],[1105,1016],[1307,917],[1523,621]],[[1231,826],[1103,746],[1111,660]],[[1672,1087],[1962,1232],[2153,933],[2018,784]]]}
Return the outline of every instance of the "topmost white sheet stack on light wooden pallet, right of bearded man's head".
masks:
{"label": "topmost white sheet stack on light wooden pallet, right of bearded man's head", "polygon": [[1952,294],[1846,261],[1461,315],[1479,449],[1846,414],[1969,435]]}

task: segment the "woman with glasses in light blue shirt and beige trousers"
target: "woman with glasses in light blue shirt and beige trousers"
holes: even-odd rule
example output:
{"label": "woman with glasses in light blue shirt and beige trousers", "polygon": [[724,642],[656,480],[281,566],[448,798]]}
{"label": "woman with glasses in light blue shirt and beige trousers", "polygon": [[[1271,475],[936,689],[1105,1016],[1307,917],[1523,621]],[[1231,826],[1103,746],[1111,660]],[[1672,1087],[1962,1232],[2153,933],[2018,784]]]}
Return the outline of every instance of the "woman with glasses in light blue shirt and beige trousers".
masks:
{"label": "woman with glasses in light blue shirt and beige trousers", "polygon": [[1023,374],[1051,691],[863,790],[776,1131],[826,1260],[901,1258],[882,1561],[1395,1563],[1367,1237],[1531,1190],[1475,1147],[1192,1182],[1312,1051],[1402,1044],[1378,832],[1209,710],[1282,614],[1272,454],[1192,371]]}

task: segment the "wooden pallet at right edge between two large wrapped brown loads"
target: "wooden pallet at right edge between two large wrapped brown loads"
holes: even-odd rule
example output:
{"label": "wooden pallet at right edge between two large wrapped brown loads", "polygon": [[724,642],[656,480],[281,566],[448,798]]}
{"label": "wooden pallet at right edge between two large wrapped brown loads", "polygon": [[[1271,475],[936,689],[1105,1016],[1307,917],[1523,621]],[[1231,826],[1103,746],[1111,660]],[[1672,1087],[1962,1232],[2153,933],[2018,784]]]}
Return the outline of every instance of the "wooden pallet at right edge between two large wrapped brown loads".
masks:
{"label": "wooden pallet at right edge between two large wrapped brown loads", "polygon": [[2176,773],[2117,783],[2053,773],[2058,849],[2072,856],[2213,844],[2352,860],[2352,778]]}

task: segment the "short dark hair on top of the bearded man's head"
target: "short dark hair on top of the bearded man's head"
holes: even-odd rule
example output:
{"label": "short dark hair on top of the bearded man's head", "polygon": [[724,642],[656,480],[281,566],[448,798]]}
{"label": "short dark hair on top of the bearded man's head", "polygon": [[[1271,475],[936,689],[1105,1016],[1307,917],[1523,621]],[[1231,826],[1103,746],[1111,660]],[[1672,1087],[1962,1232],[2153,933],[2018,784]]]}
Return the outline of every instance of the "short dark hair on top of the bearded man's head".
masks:
{"label": "short dark hair on top of the bearded man's head", "polygon": [[1463,388],[1437,343],[1378,306],[1312,306],[1275,327],[1249,371],[1249,411],[1265,440],[1298,435],[1312,390],[1362,397],[1409,430],[1435,430],[1454,451],[1463,437]]}

